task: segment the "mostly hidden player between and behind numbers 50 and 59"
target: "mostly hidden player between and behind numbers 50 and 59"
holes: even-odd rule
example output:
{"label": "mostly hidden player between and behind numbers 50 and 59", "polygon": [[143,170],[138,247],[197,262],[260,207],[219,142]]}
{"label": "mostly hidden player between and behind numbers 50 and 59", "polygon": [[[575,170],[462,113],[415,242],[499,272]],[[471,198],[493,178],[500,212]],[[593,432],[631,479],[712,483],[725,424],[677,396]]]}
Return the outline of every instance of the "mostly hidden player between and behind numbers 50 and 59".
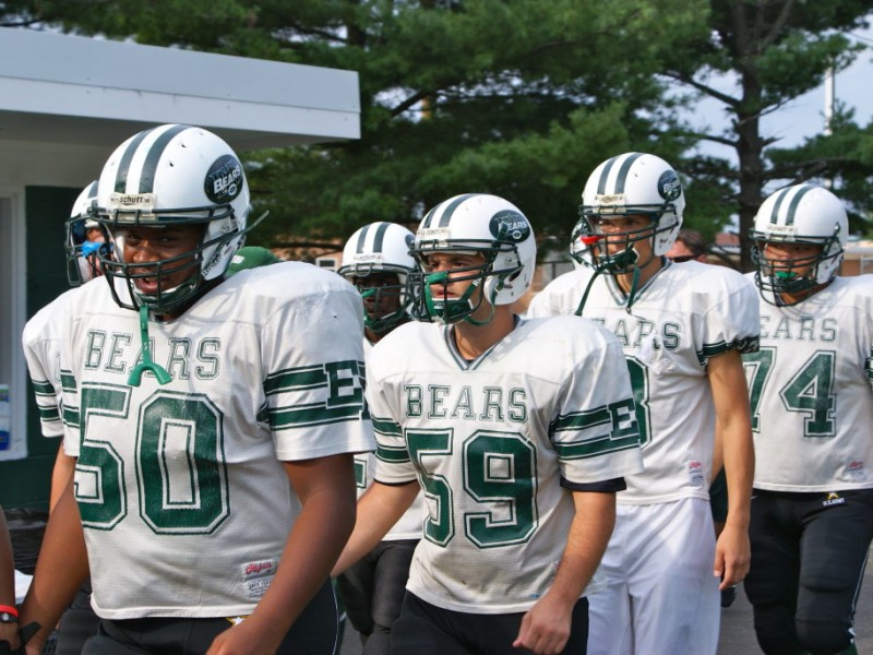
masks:
{"label": "mostly hidden player between and behind numbers 50 and 59", "polygon": [[[394,223],[364,225],[346,241],[338,273],[363,299],[363,352],[409,321],[412,294],[409,276],[416,269],[410,254],[411,231]],[[375,454],[355,455],[358,498],[373,483]],[[391,627],[400,614],[412,551],[421,538],[423,505],[419,493],[382,541],[336,579],[337,591],[361,635],[364,655],[387,655]]]}

